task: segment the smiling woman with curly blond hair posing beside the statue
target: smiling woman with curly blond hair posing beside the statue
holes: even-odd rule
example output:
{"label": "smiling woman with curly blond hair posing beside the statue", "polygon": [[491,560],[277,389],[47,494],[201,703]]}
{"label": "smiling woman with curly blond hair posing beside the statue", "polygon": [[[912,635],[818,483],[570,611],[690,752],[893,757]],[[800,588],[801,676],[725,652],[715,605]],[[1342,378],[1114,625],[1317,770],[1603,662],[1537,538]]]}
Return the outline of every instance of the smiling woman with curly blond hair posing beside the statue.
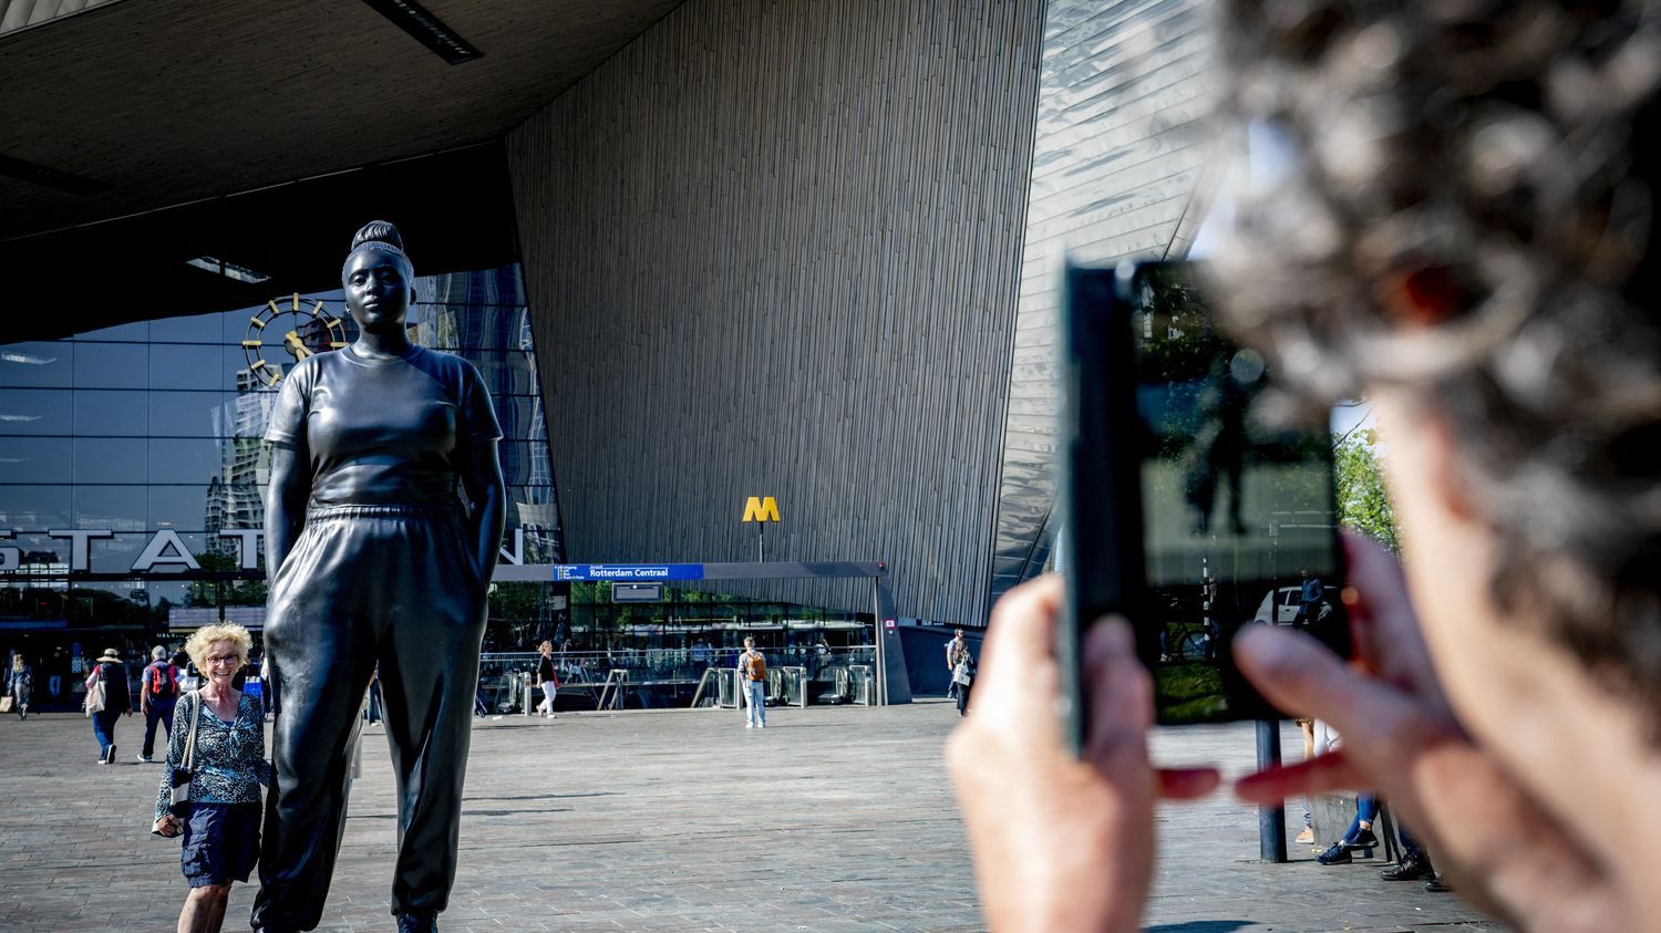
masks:
{"label": "smiling woman with curly blond hair posing beside the statue", "polygon": [[[247,629],[236,624],[206,626],[184,642],[204,684],[179,697],[153,827],[169,838],[184,833],[179,863],[191,893],[179,911],[179,933],[219,930],[231,883],[246,882],[259,857],[259,787],[271,780],[266,717],[257,699],[231,686],[249,647]],[[169,808],[171,775],[186,759],[189,812],[176,815]]]}

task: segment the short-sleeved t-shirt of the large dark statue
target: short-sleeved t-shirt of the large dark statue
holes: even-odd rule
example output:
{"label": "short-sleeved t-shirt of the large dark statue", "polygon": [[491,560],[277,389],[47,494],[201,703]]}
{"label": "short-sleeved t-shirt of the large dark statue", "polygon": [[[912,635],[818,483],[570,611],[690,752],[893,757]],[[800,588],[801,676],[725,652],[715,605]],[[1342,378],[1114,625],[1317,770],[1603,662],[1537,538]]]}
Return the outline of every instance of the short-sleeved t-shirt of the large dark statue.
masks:
{"label": "short-sleeved t-shirt of the large dark statue", "polygon": [[311,463],[314,505],[430,505],[457,501],[457,458],[502,427],[462,357],[410,347],[370,360],[345,347],[289,370],[266,440]]}

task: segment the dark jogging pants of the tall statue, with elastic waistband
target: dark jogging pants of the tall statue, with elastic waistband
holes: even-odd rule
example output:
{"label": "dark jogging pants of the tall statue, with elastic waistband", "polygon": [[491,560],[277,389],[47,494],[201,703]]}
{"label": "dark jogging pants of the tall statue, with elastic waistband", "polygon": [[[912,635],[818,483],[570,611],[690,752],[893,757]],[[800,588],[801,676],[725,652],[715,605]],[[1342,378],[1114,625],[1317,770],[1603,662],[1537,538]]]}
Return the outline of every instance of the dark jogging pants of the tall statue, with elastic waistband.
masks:
{"label": "dark jogging pants of the tall statue, with elastic waistband", "polygon": [[271,589],[272,785],[252,925],[312,930],[375,662],[399,800],[392,913],[443,910],[485,633],[458,506],[312,506]]}

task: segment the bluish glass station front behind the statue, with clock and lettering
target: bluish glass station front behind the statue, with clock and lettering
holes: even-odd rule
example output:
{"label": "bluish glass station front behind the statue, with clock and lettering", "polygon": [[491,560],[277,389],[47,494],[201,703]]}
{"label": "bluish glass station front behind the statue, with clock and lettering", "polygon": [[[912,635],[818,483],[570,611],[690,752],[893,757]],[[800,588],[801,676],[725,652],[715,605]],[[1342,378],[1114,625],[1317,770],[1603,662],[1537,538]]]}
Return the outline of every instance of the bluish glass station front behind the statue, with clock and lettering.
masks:
{"label": "bluish glass station front behind the statue, with clock and lettering", "polygon": [[[492,392],[505,550],[563,559],[518,267],[419,279],[409,329]],[[267,415],[287,367],[354,335],[332,291],[0,345],[0,646],[58,628],[141,639],[226,604],[257,623]]]}

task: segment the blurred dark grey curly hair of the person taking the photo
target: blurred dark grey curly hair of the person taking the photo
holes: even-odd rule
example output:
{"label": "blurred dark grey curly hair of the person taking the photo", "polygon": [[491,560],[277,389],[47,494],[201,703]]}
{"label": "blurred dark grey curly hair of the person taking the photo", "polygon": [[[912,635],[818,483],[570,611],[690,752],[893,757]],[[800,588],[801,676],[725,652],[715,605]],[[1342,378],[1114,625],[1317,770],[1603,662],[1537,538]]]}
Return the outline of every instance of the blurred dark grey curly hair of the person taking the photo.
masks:
{"label": "blurred dark grey curly hair of the person taking the photo", "polygon": [[1458,437],[1493,598],[1661,725],[1661,0],[1226,0],[1242,183],[1214,271],[1319,398],[1397,385]]}

